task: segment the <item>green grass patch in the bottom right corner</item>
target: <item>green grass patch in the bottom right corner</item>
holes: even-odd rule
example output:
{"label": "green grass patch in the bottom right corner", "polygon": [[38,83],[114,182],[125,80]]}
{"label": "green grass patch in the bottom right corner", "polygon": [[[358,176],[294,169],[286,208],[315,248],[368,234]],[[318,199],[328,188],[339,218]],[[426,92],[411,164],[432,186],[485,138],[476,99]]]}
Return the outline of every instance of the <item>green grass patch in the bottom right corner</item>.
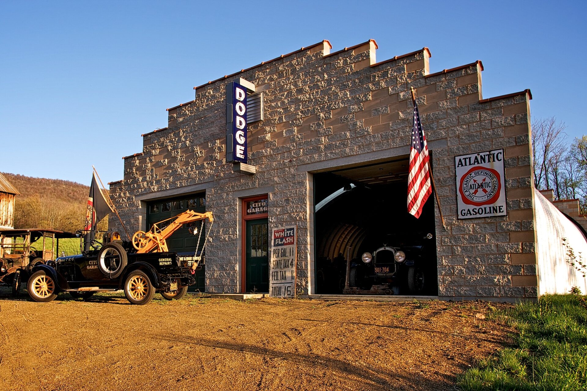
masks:
{"label": "green grass patch in the bottom right corner", "polygon": [[514,346],[458,377],[462,390],[587,390],[587,298],[544,295],[492,314],[517,329]]}

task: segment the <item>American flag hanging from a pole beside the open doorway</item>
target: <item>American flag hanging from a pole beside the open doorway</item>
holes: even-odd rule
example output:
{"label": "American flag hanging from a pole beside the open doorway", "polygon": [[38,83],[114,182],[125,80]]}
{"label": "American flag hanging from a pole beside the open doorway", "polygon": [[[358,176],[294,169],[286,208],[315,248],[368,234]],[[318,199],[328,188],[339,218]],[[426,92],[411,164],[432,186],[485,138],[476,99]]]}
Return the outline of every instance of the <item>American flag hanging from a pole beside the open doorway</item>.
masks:
{"label": "American flag hanging from a pole beside the open doorway", "polygon": [[407,175],[407,211],[418,218],[432,193],[428,171],[428,145],[420,123],[418,105],[414,102],[414,124],[411,131],[410,168]]}

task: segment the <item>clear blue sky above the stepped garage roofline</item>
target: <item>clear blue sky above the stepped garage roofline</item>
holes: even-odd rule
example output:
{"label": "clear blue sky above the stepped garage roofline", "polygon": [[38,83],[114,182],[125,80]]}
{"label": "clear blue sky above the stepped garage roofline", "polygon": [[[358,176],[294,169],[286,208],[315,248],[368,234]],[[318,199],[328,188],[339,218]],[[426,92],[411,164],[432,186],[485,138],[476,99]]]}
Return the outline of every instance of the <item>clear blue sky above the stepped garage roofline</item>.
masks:
{"label": "clear blue sky above the stepped garage roofline", "polygon": [[0,171],[123,178],[141,134],[194,86],[323,39],[377,61],[430,48],[430,72],[481,60],[485,98],[531,89],[531,114],[582,123],[587,2],[3,1]]}

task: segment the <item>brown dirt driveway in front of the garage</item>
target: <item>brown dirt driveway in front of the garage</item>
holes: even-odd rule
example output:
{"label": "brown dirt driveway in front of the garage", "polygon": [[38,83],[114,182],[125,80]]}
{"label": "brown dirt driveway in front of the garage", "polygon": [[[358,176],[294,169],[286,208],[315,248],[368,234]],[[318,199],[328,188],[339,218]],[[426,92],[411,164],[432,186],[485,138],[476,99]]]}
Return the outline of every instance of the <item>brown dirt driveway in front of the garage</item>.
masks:
{"label": "brown dirt driveway in front of the garage", "polygon": [[507,340],[479,302],[23,294],[0,291],[2,390],[448,390]]}

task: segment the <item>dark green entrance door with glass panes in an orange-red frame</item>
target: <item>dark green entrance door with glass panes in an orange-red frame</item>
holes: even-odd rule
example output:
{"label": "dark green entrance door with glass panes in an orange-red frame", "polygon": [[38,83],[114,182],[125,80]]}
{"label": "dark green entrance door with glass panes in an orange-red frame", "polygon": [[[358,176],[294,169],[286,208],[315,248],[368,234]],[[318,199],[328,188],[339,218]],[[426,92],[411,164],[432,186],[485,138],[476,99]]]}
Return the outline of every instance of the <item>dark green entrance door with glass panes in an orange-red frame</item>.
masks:
{"label": "dark green entrance door with glass panes in an orange-red frame", "polygon": [[267,219],[247,220],[247,292],[269,292]]}

